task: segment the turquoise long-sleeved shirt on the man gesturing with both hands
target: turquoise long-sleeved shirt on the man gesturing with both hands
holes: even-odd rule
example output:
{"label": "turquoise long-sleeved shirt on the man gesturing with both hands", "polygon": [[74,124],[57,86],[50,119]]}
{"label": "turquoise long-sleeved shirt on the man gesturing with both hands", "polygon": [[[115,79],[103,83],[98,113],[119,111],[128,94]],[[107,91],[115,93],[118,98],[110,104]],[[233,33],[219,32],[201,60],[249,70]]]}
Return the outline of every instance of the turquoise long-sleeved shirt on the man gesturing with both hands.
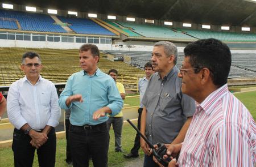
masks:
{"label": "turquoise long-sleeved shirt on the man gesturing with both hands", "polygon": [[[65,101],[69,96],[80,94],[83,102],[73,101],[67,106]],[[83,70],[71,75],[59,99],[60,108],[71,109],[69,120],[72,125],[97,125],[108,120],[108,114],[95,121],[93,113],[108,106],[112,110],[110,116],[117,115],[123,100],[118,92],[114,80],[99,69],[94,75],[88,75]]]}

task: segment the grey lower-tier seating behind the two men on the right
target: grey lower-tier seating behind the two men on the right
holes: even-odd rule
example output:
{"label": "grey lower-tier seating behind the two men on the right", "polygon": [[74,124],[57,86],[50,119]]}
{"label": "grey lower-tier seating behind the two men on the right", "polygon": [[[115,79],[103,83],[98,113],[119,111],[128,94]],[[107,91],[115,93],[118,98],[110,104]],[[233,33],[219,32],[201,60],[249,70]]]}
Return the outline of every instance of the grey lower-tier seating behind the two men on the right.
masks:
{"label": "grey lower-tier seating behind the two men on the right", "polygon": [[[108,54],[113,54],[115,57],[123,57],[124,60],[131,66],[143,69],[144,64],[151,59],[151,52],[132,52],[132,51],[108,51]],[[127,58],[129,57],[129,58]],[[179,53],[177,59],[177,67],[181,66],[184,55]],[[231,78],[254,78],[256,77],[256,55],[255,54],[232,54],[232,66],[229,73]]]}

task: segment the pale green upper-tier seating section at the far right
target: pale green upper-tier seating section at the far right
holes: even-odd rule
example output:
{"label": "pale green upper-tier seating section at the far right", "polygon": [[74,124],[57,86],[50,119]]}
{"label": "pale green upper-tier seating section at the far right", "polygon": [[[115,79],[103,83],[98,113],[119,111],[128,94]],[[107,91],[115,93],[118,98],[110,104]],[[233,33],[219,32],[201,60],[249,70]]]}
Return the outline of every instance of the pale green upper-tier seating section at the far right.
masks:
{"label": "pale green upper-tier seating section at the far right", "polygon": [[203,39],[203,38],[217,38],[221,41],[230,42],[255,42],[256,34],[254,33],[237,33],[237,32],[216,32],[216,31],[203,31],[195,29],[181,29],[175,28],[177,31],[187,33],[192,37]]}

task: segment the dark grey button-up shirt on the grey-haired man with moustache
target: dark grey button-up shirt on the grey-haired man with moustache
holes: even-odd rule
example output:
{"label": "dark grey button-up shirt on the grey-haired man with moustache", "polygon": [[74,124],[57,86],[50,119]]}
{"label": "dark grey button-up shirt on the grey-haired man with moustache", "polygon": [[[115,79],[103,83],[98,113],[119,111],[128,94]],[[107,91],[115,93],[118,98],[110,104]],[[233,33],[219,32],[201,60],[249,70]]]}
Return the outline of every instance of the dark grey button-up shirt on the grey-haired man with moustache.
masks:
{"label": "dark grey button-up shirt on the grey-haired man with moustache", "polygon": [[195,113],[195,101],[181,92],[177,67],[162,80],[158,72],[148,81],[142,104],[146,106],[146,136],[153,144],[171,143]]}

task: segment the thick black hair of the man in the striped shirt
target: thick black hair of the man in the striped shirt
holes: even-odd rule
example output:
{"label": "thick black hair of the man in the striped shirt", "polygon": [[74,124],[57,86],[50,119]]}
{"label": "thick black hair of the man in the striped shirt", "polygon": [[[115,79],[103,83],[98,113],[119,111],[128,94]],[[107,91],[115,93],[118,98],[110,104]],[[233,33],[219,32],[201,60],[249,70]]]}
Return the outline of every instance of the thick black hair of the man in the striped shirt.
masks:
{"label": "thick black hair of the man in the striped shirt", "polygon": [[[192,68],[208,68],[213,84],[221,87],[228,82],[232,62],[229,47],[214,38],[198,40],[184,48]],[[199,72],[199,71],[198,71]]]}

